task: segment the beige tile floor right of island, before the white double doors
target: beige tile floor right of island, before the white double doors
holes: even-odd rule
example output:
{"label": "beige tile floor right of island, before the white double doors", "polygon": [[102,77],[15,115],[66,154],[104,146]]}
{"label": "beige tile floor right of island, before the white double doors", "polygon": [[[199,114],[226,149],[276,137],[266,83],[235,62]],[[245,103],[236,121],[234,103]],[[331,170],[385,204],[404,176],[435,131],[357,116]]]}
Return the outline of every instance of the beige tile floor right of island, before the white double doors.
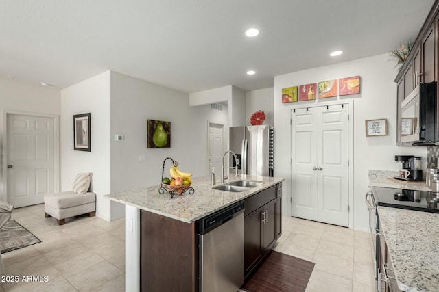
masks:
{"label": "beige tile floor right of island, before the white double doors", "polygon": [[372,292],[370,234],[330,224],[283,217],[274,250],[316,263],[307,292]]}

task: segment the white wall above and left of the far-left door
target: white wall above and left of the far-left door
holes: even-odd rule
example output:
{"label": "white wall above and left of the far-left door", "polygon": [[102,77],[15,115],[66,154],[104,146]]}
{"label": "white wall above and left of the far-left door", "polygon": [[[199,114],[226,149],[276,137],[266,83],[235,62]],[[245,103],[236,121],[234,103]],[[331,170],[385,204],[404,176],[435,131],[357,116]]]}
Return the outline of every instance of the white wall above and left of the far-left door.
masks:
{"label": "white wall above and left of the far-left door", "polygon": [[[6,135],[6,129],[3,127],[5,111],[59,116],[61,113],[60,90],[0,78],[0,154],[3,152],[3,136]],[[3,163],[7,163],[6,157],[0,155],[0,198],[6,200],[3,194],[3,179],[1,179]]]}

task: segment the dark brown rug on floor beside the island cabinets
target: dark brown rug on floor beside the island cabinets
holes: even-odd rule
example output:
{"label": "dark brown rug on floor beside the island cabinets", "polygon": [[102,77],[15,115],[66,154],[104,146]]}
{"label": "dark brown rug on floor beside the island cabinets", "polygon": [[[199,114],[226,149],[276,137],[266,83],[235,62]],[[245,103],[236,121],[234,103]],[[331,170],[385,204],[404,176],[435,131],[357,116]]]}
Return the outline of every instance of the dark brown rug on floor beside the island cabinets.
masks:
{"label": "dark brown rug on floor beside the island cabinets", "polygon": [[248,292],[304,292],[314,263],[272,251],[241,289]]}

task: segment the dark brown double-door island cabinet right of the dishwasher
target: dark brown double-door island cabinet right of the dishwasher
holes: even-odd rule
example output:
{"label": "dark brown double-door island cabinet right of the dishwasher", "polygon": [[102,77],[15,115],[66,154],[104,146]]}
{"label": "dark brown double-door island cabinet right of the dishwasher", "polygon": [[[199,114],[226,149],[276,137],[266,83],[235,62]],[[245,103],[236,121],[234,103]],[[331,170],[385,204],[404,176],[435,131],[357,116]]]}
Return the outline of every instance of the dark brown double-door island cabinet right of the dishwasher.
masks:
{"label": "dark brown double-door island cabinet right of the dishwasher", "polygon": [[282,234],[281,184],[247,198],[245,205],[244,276],[247,279]]}

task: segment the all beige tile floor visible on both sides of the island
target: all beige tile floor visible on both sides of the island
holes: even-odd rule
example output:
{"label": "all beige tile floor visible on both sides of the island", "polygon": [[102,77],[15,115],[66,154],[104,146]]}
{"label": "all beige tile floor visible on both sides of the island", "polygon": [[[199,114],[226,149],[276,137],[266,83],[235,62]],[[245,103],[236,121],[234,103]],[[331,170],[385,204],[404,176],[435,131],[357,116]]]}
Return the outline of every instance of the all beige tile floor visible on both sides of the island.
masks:
{"label": "all beige tile floor visible on both sides of the island", "polygon": [[[12,219],[42,242],[3,254],[5,275],[47,282],[1,282],[1,291],[124,291],[125,221],[79,217],[58,226],[44,205],[15,209]],[[283,217],[276,251],[316,263],[307,292],[373,291],[370,237],[348,228]],[[3,279],[5,280],[5,279]]]}

